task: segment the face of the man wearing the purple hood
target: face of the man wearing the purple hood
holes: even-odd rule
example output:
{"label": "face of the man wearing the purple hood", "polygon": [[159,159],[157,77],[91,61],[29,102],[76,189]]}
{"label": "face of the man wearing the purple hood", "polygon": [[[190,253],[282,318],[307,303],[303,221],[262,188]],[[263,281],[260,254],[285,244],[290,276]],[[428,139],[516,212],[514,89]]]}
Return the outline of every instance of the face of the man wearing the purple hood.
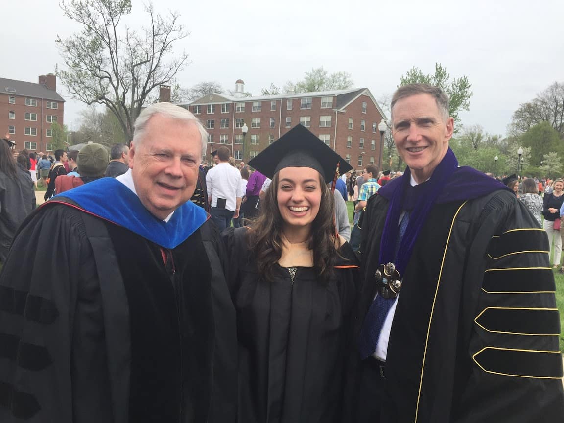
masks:
{"label": "face of the man wearing the purple hood", "polygon": [[399,99],[392,111],[392,134],[398,155],[418,182],[429,179],[448,151],[454,129],[452,117],[444,118],[429,94]]}

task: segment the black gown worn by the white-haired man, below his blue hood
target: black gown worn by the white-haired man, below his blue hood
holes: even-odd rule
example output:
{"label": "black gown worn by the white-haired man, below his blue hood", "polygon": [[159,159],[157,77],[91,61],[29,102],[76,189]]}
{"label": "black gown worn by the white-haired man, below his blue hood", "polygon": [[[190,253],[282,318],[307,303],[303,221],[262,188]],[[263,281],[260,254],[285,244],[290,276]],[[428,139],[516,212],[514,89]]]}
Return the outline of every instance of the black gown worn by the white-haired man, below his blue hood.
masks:
{"label": "black gown worn by the white-haired man, below his blue hood", "polygon": [[0,275],[0,421],[235,420],[235,313],[209,222],[173,249],[47,202]]}

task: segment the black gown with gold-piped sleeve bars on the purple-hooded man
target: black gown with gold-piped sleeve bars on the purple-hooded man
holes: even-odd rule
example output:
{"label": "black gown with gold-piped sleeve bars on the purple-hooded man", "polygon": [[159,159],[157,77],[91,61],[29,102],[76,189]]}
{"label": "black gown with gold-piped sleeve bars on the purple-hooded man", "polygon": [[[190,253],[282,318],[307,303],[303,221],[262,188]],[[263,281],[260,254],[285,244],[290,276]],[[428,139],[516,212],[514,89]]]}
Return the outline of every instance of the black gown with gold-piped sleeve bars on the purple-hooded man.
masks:
{"label": "black gown with gold-piped sleeve bars on the purple-hooded man", "polygon": [[[388,205],[373,196],[364,215],[357,335],[376,292]],[[380,422],[564,421],[548,250],[545,232],[509,191],[433,206],[398,297],[386,395],[374,399]]]}

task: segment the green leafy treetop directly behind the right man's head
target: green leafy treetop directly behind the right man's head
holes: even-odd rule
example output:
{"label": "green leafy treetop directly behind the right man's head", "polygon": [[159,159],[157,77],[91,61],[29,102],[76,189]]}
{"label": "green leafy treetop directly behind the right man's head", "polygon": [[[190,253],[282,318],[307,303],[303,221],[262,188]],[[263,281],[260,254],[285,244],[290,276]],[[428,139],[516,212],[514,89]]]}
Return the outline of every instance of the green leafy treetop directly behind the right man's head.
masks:
{"label": "green leafy treetop directly behind the right man's head", "polygon": [[455,120],[456,131],[456,124],[460,122],[459,112],[461,110],[468,111],[470,109],[470,97],[472,97],[473,92],[470,91],[472,84],[468,82],[468,77],[463,76],[460,78],[454,78],[451,81],[451,76],[449,73],[447,73],[447,69],[444,68],[442,64],[435,63],[434,74],[424,74],[421,69],[415,66],[412,67],[407,71],[405,76],[402,75],[402,77],[400,78],[399,86],[404,86],[415,82],[435,85],[446,92],[448,98],[450,99],[450,107],[448,109],[448,113]]}

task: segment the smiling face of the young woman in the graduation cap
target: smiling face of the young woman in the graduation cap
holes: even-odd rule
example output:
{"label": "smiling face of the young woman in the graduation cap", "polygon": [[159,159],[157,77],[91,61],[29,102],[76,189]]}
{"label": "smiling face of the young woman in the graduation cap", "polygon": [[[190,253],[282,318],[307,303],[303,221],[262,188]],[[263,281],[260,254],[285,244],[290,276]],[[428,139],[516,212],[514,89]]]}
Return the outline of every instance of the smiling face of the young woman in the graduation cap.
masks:
{"label": "smiling face of the young woman in the graduation cap", "polygon": [[319,213],[321,182],[319,172],[311,168],[284,168],[278,173],[276,187],[278,209],[284,232],[310,232]]}

